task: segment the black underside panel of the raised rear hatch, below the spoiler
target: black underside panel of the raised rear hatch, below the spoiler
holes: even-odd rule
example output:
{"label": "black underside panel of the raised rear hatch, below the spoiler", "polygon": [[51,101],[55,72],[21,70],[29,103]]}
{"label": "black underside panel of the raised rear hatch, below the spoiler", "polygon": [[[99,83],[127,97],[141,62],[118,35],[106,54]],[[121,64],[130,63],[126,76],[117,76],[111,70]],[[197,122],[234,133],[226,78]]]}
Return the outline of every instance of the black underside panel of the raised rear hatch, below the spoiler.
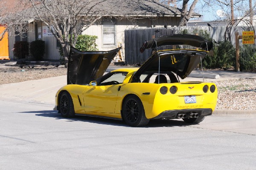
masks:
{"label": "black underside panel of the raised rear hatch, below the spoiler", "polygon": [[158,72],[158,70],[160,72],[175,72],[180,78],[184,79],[195,69],[206,54],[207,51],[192,49],[155,52],[134,74],[133,80],[139,78],[143,73]]}

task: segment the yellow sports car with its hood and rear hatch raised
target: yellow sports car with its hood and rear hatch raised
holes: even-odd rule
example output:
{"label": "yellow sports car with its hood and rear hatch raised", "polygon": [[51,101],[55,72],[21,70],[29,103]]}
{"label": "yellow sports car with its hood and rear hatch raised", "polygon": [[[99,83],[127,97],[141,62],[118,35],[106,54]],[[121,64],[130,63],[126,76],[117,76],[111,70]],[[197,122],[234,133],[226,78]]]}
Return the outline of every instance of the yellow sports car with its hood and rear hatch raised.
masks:
{"label": "yellow sports car with its hood and rear hatch raised", "polygon": [[[158,50],[165,45],[200,49]],[[65,118],[75,114],[122,119],[138,127],[150,119],[179,119],[199,123],[211,115],[217,101],[214,83],[180,82],[205,57],[212,42],[196,35],[167,35],[145,41],[152,49],[140,68],[116,69],[103,75],[120,48],[108,52],[72,49],[67,85],[55,96],[55,109]]]}

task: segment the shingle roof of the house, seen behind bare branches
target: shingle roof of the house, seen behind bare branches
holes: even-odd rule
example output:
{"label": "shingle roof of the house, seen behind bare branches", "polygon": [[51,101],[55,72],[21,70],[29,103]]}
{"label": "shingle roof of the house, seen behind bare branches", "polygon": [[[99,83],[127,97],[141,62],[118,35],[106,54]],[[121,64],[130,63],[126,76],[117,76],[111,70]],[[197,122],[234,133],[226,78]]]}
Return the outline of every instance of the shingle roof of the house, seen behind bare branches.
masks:
{"label": "shingle roof of the house, seen behind bare branches", "polygon": [[[84,8],[84,14],[81,15],[103,15],[103,16],[113,16],[113,17],[180,17],[181,9],[167,6],[163,3],[160,3],[158,0],[127,0],[125,3],[119,0],[106,0],[102,2],[102,0],[94,0],[93,3],[99,3],[94,10],[88,12],[90,7]],[[40,8],[40,3],[38,4]],[[79,9],[79,7],[78,7]],[[44,11],[44,10],[42,10]],[[26,13],[29,14],[30,17],[35,16],[35,12],[32,8],[26,10]],[[193,13],[192,17],[201,17],[200,14]]]}

